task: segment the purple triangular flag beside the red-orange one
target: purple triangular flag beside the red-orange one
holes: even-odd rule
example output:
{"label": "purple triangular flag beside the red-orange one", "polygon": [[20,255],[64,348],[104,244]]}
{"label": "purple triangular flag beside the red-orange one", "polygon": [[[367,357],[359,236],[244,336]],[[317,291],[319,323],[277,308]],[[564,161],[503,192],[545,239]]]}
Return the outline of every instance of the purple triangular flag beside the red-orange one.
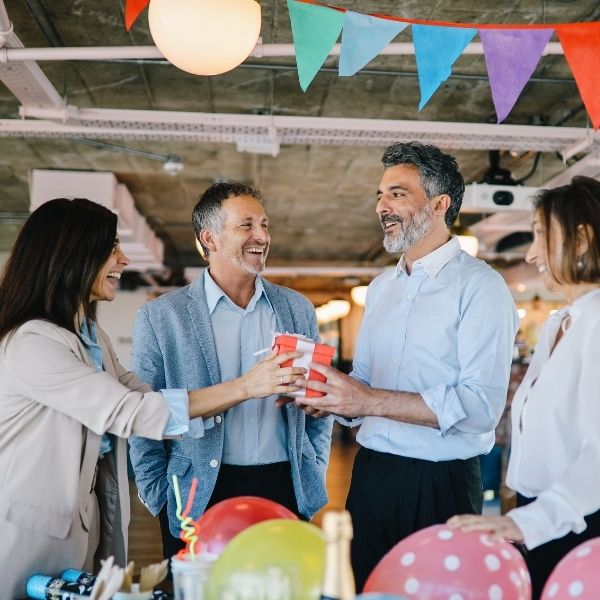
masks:
{"label": "purple triangular flag beside the red-orange one", "polygon": [[552,29],[481,29],[492,100],[502,123],[540,62]]}

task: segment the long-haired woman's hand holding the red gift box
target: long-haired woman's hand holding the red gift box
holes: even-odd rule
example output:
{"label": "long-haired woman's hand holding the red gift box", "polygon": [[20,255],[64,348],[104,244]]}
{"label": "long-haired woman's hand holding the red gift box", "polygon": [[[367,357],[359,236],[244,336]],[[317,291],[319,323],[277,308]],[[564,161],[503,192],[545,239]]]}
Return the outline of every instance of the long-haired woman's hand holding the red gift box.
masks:
{"label": "long-haired woman's hand holding the red gift box", "polygon": [[306,373],[306,369],[281,365],[301,356],[300,352],[273,353],[256,363],[240,378],[246,398],[266,398],[273,394],[289,394],[299,389],[296,381]]}

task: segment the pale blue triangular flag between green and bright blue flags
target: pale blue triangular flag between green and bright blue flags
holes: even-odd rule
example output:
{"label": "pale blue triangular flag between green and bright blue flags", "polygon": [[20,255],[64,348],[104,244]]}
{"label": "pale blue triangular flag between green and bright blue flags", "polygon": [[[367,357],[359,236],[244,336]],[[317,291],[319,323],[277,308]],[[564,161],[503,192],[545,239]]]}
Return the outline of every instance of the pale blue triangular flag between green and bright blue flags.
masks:
{"label": "pale blue triangular flag between green and bright blue flags", "polygon": [[407,26],[408,23],[347,11],[342,33],[339,74],[349,77],[360,71]]}

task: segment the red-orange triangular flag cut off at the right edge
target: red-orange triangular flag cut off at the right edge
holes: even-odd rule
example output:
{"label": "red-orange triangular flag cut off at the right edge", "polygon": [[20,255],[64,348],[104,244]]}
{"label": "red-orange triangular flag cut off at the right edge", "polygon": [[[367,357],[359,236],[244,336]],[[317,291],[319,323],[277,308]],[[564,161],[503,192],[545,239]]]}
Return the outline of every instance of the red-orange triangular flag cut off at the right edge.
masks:
{"label": "red-orange triangular flag cut off at the right edge", "polygon": [[600,127],[600,23],[557,25],[556,33],[594,129]]}

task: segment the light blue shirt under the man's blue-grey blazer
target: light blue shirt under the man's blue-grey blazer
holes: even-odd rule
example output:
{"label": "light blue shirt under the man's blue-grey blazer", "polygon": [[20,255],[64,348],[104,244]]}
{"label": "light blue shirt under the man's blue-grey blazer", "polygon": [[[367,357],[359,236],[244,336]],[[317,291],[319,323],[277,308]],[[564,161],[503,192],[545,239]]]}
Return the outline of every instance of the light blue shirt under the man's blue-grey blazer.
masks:
{"label": "light blue shirt under the man's blue-grey blazer", "polygon": [[[204,271],[204,291],[217,347],[221,381],[240,377],[271,346],[276,331],[273,307],[256,278],[254,295],[243,309],[233,303]],[[225,413],[223,464],[263,465],[289,460],[287,427],[283,411],[275,406],[277,395],[251,398]]]}

